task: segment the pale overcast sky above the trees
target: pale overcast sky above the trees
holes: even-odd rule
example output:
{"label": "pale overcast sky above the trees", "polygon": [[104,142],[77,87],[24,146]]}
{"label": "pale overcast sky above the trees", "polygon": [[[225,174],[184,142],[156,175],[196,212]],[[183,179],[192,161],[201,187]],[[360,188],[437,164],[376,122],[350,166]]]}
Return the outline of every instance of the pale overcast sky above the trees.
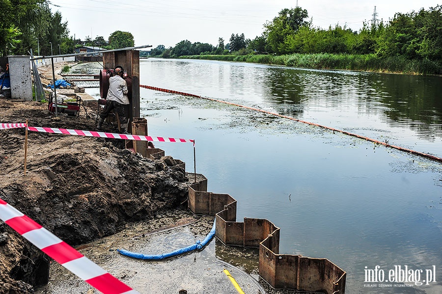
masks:
{"label": "pale overcast sky above the trees", "polygon": [[[50,0],[53,12],[59,10],[68,22],[70,35],[105,39],[116,31],[134,35],[135,46],[173,47],[181,40],[218,44],[228,43],[232,33],[254,39],[283,8],[296,7],[296,0]],[[298,0],[313,26],[328,28],[339,24],[359,30],[371,21],[376,6],[377,19],[385,22],[396,12],[408,13],[435,7],[440,0]]]}

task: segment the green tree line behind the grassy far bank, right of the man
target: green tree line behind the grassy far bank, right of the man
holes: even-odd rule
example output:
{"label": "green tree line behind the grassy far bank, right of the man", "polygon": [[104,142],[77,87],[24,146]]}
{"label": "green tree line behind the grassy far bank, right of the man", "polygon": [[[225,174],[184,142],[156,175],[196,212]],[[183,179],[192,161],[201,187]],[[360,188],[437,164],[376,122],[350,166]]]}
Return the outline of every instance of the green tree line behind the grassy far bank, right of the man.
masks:
{"label": "green tree line behind the grassy far bank, right of the man", "polygon": [[169,49],[160,45],[153,56],[179,57],[204,54],[376,54],[408,59],[442,61],[442,5],[418,12],[396,13],[387,23],[364,23],[359,31],[345,25],[327,29],[313,27],[308,12],[301,7],[282,9],[264,24],[264,31],[253,40],[232,34],[229,43],[191,43],[183,40]]}

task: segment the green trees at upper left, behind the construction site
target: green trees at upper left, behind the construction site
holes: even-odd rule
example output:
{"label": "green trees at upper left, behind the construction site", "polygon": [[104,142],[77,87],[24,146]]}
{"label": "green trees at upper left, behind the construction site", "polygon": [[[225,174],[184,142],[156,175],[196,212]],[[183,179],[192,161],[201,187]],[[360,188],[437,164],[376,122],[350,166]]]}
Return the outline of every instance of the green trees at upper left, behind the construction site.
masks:
{"label": "green trees at upper left, behind the construction site", "polygon": [[108,40],[103,36],[84,40],[69,36],[67,22],[62,22],[59,11],[52,13],[46,0],[0,0],[0,11],[2,56],[27,55],[30,48],[34,55],[38,51],[40,55],[56,55],[74,53],[79,46],[117,49],[135,44],[132,33],[119,30],[111,33]]}

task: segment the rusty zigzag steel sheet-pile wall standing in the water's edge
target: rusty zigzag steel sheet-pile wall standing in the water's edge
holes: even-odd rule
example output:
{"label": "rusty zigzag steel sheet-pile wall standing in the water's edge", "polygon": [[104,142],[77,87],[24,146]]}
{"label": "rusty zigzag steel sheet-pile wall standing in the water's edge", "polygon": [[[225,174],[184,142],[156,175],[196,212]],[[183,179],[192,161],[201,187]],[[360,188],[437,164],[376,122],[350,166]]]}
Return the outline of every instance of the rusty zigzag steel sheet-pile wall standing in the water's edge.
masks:
{"label": "rusty zigzag steel sheet-pile wall standing in the water's edge", "polygon": [[189,209],[216,217],[216,233],[226,245],[259,247],[259,275],[276,289],[344,294],[347,273],[325,258],[279,254],[279,228],[271,221],[236,221],[236,200],[207,192],[207,179],[189,186]]}

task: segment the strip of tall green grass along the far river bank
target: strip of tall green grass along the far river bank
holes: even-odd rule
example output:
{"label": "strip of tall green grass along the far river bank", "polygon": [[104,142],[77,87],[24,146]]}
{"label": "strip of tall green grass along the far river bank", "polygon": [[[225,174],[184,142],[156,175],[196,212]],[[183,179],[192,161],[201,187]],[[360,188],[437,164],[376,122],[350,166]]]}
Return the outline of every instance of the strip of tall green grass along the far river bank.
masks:
{"label": "strip of tall green grass along the far river bank", "polygon": [[343,69],[421,75],[442,74],[442,62],[409,60],[401,56],[378,57],[375,54],[290,54],[290,55],[191,55],[179,58],[253,62],[314,69]]}

